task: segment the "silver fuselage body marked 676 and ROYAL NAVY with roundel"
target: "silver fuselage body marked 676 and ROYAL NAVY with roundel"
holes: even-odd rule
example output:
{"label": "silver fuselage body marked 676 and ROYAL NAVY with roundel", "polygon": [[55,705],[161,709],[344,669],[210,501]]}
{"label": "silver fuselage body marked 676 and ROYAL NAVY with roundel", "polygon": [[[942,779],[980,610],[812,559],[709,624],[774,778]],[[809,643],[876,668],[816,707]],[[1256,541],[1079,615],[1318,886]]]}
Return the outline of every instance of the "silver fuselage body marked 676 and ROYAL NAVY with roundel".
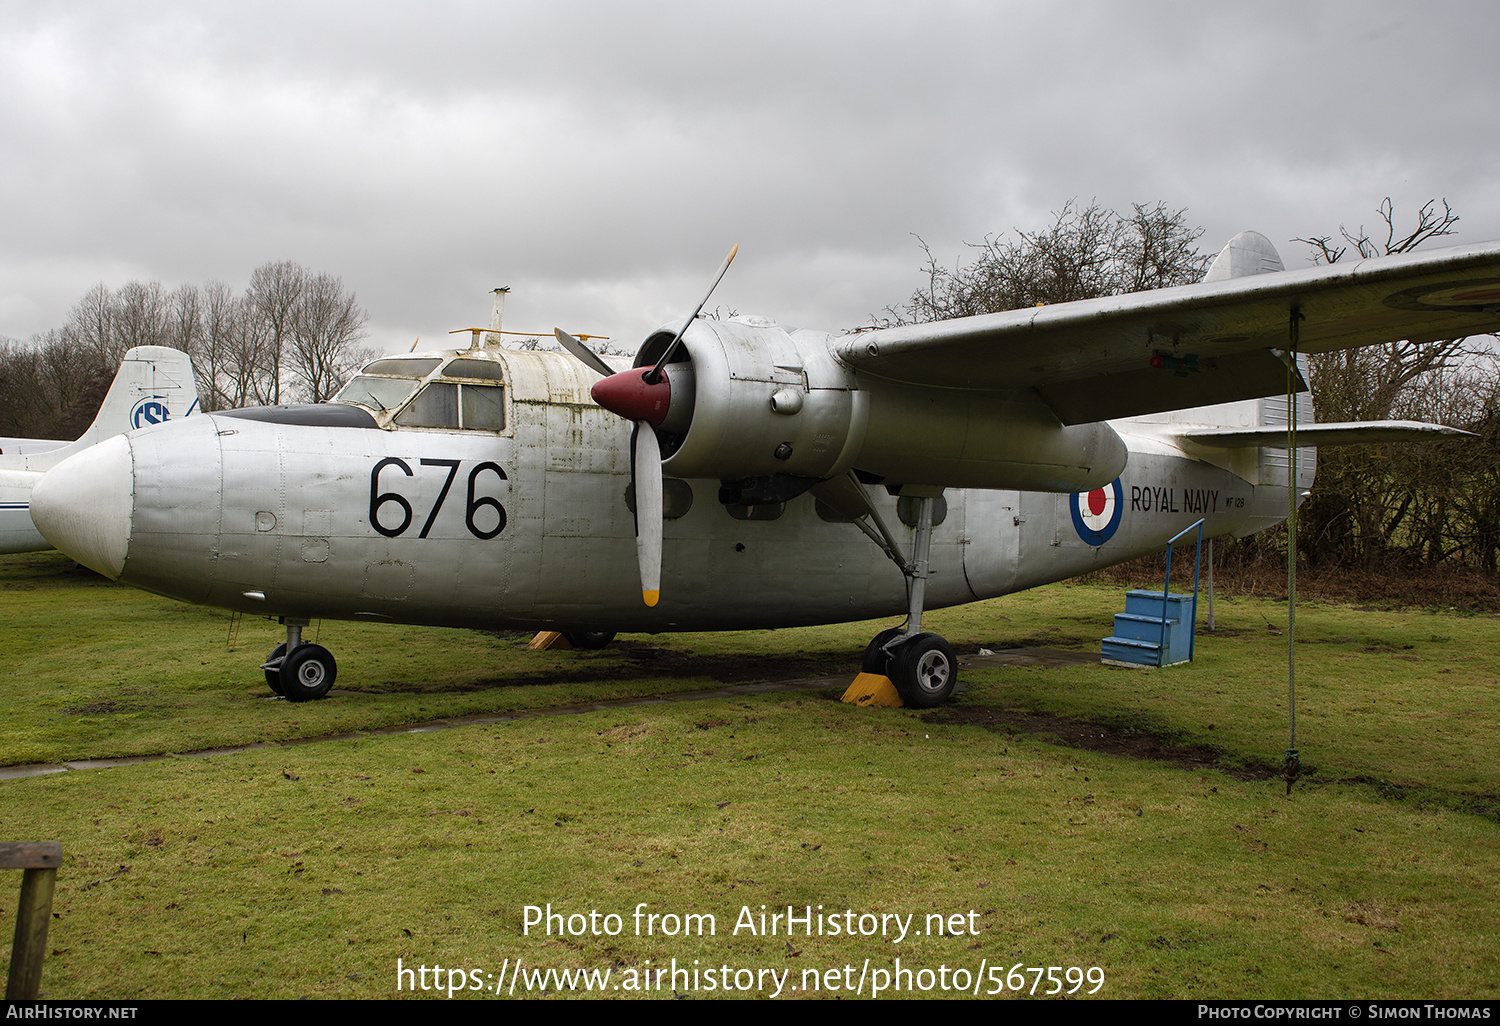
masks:
{"label": "silver fuselage body marked 676 and ROYAL NAVY with roundel", "polygon": [[[574,387],[566,357],[508,352],[506,363],[513,381],[530,374],[550,387],[513,388],[502,430],[242,411],[114,438],[96,447],[92,490],[76,500],[102,518],[90,564],[183,602],[303,620],[688,632],[906,610],[902,570],[813,495],[726,507],[717,480],[668,484],[666,586],[644,606],[630,426]],[[945,492],[927,606],[1131,560],[1200,518],[1206,536],[1242,531],[1268,500],[1274,508],[1266,486],[1119,428],[1126,468],[1094,494]],[[1284,512],[1284,488],[1270,490]],[[870,492],[909,540],[910,510]]]}

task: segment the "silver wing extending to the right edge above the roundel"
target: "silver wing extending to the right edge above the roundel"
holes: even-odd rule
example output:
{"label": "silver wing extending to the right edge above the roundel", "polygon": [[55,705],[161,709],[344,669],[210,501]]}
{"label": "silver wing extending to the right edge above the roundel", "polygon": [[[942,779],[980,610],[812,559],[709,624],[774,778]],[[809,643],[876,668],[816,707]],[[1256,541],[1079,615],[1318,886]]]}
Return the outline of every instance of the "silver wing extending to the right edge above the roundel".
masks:
{"label": "silver wing extending to the right edge above the roundel", "polygon": [[[1500,243],[861,332],[837,354],[914,386],[1035,388],[1065,424],[1284,393],[1278,352],[1500,328]],[[1160,357],[1152,366],[1154,357]]]}

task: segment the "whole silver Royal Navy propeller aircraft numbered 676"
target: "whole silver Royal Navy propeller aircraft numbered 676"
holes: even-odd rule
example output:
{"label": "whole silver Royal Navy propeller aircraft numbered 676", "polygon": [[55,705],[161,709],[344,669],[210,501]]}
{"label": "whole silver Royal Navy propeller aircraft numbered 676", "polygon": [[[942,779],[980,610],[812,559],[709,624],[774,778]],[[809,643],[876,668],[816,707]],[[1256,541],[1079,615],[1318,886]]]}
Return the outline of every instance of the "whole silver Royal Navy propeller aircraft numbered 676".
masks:
{"label": "whole silver Royal Navy propeller aircraft numbered 676", "polygon": [[[1314,470],[1300,450],[1288,482],[1300,354],[1497,327],[1500,244],[1284,272],[1245,232],[1197,285],[933,324],[694,310],[622,370],[566,332],[568,352],[526,352],[476,328],[326,405],[104,441],[48,471],[32,516],[106,578],[280,618],[262,669],[288,699],[334,681],[314,618],[584,638],[906,614],[864,669],[933,705],[957,662],[924,608],[1160,550],[1200,518],[1210,537],[1284,519]],[[1298,446],[1444,430],[1310,406]]]}

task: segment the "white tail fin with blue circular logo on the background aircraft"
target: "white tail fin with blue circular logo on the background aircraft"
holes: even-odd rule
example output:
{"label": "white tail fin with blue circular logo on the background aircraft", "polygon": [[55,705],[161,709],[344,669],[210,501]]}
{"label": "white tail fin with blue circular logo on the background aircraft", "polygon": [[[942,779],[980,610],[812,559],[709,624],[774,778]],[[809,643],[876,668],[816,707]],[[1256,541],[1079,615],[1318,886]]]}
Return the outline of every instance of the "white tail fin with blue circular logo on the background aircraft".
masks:
{"label": "white tail fin with blue circular logo on the background aircraft", "polygon": [[141,345],[124,354],[99,414],[78,441],[26,458],[28,471],[45,471],[105,438],[198,411],[198,386],[186,352]]}

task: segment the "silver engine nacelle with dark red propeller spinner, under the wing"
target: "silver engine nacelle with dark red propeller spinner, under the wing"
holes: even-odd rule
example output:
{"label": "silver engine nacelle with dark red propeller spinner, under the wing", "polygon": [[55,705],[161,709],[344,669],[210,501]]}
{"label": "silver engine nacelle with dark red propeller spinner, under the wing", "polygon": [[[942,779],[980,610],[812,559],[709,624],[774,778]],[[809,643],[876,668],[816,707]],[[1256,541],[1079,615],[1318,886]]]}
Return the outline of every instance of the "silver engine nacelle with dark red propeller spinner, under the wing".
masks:
{"label": "silver engine nacelle with dark red propeller spinner, under the wing", "polygon": [[[646,339],[636,368],[654,366],[672,338]],[[780,501],[848,470],[892,484],[1038,492],[1101,488],[1125,470],[1128,450],[1108,424],[1064,426],[1032,388],[855,374],[820,332],[693,321],[674,356],[666,381],[624,372],[594,396],[656,426],[666,474],[724,482],[724,502]]]}

